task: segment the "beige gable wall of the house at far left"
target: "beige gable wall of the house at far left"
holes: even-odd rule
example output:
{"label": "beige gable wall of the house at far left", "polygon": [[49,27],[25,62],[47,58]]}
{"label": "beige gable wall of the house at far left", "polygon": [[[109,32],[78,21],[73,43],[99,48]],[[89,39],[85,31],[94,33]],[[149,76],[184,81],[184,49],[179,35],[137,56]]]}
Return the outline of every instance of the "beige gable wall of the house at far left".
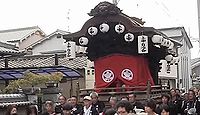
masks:
{"label": "beige gable wall of the house at far left", "polygon": [[32,33],[30,36],[27,36],[27,38],[24,38],[23,40],[20,41],[19,49],[23,50],[42,38],[43,36],[40,34],[40,32]]}

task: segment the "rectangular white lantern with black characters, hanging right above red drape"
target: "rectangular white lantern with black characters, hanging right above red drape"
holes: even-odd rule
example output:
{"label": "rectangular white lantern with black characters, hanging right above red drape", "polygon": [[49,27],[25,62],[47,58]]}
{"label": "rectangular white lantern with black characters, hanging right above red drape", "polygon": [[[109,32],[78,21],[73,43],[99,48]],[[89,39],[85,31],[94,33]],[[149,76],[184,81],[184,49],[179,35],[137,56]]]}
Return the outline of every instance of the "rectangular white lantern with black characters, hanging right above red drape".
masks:
{"label": "rectangular white lantern with black characters, hanging right above red drape", "polygon": [[148,36],[145,35],[138,36],[138,53],[139,54],[148,53]]}

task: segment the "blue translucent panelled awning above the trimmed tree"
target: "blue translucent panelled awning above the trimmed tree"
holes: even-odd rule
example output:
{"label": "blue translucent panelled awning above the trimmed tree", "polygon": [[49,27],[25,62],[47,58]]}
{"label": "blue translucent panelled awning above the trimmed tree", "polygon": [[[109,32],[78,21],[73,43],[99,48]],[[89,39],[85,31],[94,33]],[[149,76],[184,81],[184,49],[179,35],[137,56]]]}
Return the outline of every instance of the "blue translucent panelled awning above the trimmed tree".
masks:
{"label": "blue translucent panelled awning above the trimmed tree", "polygon": [[55,72],[61,72],[63,78],[79,78],[82,75],[71,68],[64,66],[51,66],[51,67],[33,67],[33,68],[1,68],[0,80],[16,80],[21,79],[25,72],[31,72],[38,75],[49,75]]}

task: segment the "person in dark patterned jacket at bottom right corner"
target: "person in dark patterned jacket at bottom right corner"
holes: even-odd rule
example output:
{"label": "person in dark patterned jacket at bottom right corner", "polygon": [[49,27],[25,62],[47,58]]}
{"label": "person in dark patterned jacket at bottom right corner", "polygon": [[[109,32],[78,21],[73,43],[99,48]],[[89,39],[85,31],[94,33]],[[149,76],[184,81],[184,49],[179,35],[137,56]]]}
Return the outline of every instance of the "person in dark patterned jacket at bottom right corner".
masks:
{"label": "person in dark patterned jacket at bottom right corner", "polygon": [[200,115],[200,102],[196,100],[193,90],[188,91],[188,101],[184,103],[181,112],[181,115]]}

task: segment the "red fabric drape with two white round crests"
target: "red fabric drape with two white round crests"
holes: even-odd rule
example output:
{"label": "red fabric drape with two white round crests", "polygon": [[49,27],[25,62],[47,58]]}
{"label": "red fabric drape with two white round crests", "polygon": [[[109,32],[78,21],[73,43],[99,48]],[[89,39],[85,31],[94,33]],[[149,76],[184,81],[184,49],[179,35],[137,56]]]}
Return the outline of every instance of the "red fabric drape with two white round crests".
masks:
{"label": "red fabric drape with two white round crests", "polygon": [[116,80],[127,86],[154,85],[148,61],[143,56],[109,55],[95,60],[96,88],[105,88]]}

